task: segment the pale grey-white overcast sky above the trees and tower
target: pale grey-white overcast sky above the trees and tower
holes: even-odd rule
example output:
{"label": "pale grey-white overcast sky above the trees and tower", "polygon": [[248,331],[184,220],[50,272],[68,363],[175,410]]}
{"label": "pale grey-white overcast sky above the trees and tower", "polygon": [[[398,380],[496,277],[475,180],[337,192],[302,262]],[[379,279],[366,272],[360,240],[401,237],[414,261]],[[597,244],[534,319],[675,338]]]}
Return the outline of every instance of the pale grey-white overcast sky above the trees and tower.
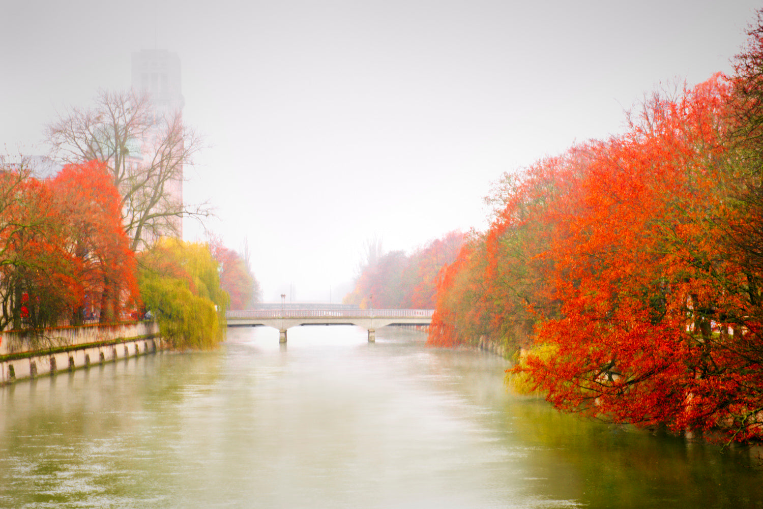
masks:
{"label": "pale grey-white overcast sky above the trees and tower", "polygon": [[[178,53],[208,145],[186,201],[248,237],[265,298],[340,301],[365,240],[406,250],[485,227],[504,171],[623,127],[675,79],[730,71],[752,0],[0,0],[0,150]],[[185,224],[186,240],[204,240]]]}

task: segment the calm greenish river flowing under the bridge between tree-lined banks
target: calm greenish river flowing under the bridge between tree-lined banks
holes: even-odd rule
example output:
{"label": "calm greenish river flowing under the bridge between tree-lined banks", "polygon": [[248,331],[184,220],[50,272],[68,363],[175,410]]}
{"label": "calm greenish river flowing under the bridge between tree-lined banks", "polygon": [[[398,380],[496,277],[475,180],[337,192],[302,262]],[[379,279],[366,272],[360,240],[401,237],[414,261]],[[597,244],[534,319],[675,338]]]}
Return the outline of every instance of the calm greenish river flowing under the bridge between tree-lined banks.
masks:
{"label": "calm greenish river flowing under the bridge between tree-lined banks", "polygon": [[237,328],[0,388],[0,507],[763,507],[745,453],[559,414],[425,340]]}

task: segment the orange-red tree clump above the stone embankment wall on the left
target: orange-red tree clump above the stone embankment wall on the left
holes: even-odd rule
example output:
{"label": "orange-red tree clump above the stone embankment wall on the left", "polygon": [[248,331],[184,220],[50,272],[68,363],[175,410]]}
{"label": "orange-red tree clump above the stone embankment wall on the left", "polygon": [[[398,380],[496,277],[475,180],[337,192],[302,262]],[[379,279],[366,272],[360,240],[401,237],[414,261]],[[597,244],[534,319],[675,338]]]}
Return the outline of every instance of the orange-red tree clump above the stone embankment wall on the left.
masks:
{"label": "orange-red tree clump above the stone embankment wall on the left", "polygon": [[0,326],[79,323],[87,304],[105,311],[101,321],[113,321],[132,304],[134,256],[101,163],[69,165],[44,181],[23,163],[5,168],[0,202]]}

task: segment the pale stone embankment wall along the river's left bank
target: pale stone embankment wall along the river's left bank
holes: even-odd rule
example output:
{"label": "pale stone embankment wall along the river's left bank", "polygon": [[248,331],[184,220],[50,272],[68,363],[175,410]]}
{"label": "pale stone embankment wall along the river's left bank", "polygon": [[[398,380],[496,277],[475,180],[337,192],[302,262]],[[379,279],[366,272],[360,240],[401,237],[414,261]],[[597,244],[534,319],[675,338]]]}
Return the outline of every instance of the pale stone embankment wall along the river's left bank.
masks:
{"label": "pale stone embankment wall along the river's left bank", "polygon": [[165,347],[156,322],[50,329],[43,337],[31,339],[23,333],[0,333],[0,385],[154,353]]}

